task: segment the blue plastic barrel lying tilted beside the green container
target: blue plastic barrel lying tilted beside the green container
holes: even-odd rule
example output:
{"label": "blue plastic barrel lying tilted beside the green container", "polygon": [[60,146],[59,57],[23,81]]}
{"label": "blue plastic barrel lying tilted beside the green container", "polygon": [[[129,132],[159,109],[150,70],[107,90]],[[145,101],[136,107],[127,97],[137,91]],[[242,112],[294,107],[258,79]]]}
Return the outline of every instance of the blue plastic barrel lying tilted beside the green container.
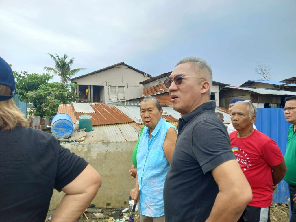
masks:
{"label": "blue plastic barrel lying tilted beside the green container", "polygon": [[66,113],[59,113],[52,118],[52,135],[65,139],[72,135],[74,130],[71,117]]}

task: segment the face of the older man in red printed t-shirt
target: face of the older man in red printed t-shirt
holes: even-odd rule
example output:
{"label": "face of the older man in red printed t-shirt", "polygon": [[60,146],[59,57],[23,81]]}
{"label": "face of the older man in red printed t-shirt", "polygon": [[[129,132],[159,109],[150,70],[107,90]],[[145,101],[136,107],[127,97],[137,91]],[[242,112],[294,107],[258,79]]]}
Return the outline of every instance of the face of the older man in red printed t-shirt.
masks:
{"label": "face of the older man in red printed t-shirt", "polygon": [[256,120],[256,116],[250,118],[247,104],[236,104],[231,110],[230,118],[237,131],[252,127]]}

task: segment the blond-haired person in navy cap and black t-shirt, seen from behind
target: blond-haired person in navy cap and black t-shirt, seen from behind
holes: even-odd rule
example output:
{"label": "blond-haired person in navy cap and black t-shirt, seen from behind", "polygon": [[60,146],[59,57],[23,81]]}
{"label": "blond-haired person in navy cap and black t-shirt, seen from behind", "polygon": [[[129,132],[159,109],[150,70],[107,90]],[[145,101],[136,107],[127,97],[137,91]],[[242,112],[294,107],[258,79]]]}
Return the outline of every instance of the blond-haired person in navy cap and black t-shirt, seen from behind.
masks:
{"label": "blond-haired person in navy cap and black t-shirt, seen from behind", "polygon": [[[49,133],[28,126],[0,57],[0,221],[45,221],[53,189],[65,192],[51,221],[76,221],[101,186],[99,173]],[[90,176],[91,175],[91,176]]]}

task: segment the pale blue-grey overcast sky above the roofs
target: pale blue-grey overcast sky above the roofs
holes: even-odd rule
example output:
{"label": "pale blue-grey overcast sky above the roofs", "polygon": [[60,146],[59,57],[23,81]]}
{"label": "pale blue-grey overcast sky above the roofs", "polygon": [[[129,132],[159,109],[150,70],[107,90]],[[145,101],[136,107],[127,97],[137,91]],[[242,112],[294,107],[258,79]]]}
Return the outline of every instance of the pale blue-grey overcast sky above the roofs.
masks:
{"label": "pale blue-grey overcast sky above the roofs", "polygon": [[[296,76],[296,1],[4,1],[0,56],[16,71],[54,67],[46,53],[75,57],[78,75],[126,64],[152,76],[187,56],[205,59],[213,80],[239,86],[271,66]],[[56,81],[59,78],[55,77]]]}

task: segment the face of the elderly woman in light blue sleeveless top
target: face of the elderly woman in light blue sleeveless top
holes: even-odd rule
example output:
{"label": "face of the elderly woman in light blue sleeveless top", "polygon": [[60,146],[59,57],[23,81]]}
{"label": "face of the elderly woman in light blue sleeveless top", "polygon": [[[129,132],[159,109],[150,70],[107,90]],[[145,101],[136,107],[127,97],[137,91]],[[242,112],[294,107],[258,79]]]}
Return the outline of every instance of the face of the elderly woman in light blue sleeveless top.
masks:
{"label": "face of the elderly woman in light blue sleeveless top", "polygon": [[149,129],[154,129],[163,115],[163,110],[158,111],[155,102],[142,102],[140,107],[142,123]]}

